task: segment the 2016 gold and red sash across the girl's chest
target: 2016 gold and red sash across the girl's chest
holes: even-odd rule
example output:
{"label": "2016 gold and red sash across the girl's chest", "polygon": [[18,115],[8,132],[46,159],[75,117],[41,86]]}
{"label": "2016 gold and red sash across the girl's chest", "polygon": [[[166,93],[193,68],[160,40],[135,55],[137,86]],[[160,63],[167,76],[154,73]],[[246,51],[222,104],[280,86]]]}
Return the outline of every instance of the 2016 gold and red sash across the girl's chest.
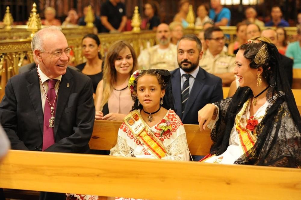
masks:
{"label": "2016 gold and red sash across the girl's chest", "polygon": [[130,112],[123,119],[125,124],[132,131],[136,140],[140,141],[142,146],[151,155],[162,158],[167,153],[161,141],[147,128],[147,125],[142,120],[140,113],[137,110]]}

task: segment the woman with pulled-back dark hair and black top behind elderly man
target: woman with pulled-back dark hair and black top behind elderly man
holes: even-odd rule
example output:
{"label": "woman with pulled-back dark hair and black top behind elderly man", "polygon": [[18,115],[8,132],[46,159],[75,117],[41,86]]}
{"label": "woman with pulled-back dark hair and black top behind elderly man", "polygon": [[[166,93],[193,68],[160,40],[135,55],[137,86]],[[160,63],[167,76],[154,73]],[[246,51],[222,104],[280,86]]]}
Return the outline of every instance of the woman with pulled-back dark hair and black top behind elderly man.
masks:
{"label": "woman with pulled-back dark hair and black top behind elderly man", "polygon": [[[93,93],[96,93],[97,84],[102,79],[104,63],[101,60],[100,40],[95,34],[87,34],[82,38],[82,55],[87,62],[76,66],[83,74],[92,79]],[[94,95],[93,95],[94,96]]]}

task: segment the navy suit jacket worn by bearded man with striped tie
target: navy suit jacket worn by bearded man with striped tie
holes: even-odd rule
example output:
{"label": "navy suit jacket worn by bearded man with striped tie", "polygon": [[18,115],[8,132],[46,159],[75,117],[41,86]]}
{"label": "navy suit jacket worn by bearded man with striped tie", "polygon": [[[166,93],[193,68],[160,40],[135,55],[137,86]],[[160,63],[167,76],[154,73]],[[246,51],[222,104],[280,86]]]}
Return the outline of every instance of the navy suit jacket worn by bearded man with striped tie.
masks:
{"label": "navy suit jacket worn by bearded man with striped tie", "polygon": [[182,115],[180,68],[170,72],[175,112],[183,124],[198,124],[197,112],[207,103],[223,99],[222,79],[200,68],[189,93],[185,112]]}

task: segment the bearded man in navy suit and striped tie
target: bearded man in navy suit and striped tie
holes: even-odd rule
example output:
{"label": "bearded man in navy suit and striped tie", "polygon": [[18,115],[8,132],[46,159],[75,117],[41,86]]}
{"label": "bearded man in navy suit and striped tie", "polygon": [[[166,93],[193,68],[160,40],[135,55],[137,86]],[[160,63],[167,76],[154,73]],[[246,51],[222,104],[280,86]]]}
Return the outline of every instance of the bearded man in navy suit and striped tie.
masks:
{"label": "bearded man in navy suit and striped tie", "polygon": [[177,45],[180,68],[171,72],[175,112],[184,124],[198,124],[197,112],[223,98],[222,79],[200,68],[202,44],[195,35],[184,35]]}

